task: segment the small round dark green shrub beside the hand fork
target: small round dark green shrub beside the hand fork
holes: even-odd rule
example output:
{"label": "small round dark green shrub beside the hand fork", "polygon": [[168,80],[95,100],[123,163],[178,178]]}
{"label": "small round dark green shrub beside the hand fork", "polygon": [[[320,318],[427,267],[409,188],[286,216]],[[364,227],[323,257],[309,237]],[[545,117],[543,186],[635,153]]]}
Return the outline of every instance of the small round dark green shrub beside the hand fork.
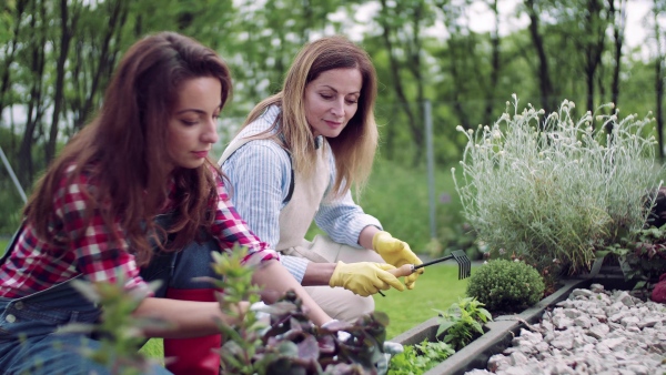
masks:
{"label": "small round dark green shrub beside the hand fork", "polygon": [[537,303],[544,295],[538,271],[521,261],[494,260],[470,277],[467,295],[490,311],[518,312]]}

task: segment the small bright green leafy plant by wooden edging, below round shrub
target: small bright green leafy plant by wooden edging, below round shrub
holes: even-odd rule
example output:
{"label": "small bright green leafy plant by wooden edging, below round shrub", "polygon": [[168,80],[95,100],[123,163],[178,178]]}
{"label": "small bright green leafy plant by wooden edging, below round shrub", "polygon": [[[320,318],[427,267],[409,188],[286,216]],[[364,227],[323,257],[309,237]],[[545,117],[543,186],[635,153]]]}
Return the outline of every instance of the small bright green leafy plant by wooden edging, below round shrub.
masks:
{"label": "small bright green leafy plant by wooden edging, below round shrub", "polygon": [[440,314],[437,337],[444,334],[443,342],[456,351],[465,347],[484,334],[482,324],[493,320],[483,306],[476,298],[466,297],[453,303],[446,311],[435,310]]}

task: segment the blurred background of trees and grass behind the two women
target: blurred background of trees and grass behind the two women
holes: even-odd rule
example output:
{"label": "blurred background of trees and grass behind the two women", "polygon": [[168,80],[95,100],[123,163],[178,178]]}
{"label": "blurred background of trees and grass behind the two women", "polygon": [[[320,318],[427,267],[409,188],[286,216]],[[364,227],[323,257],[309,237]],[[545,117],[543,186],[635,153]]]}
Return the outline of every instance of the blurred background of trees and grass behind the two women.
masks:
{"label": "blurred background of trees and grass behind the two women", "polygon": [[483,250],[452,182],[466,143],[456,126],[513,113],[513,93],[518,112],[571,100],[578,114],[613,102],[620,116],[654,116],[664,155],[666,0],[0,0],[0,244],[125,49],[162,30],[232,67],[214,159],[303,43],[340,33],[361,44],[380,78],[381,145],[356,200],[418,253]]}

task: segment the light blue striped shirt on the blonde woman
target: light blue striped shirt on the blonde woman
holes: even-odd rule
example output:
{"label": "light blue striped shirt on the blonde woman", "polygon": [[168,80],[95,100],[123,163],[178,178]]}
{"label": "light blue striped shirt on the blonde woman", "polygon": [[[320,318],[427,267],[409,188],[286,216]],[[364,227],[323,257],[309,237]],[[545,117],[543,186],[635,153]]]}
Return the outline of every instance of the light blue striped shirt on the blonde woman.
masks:
{"label": "light blue striped shirt on the blonde woman", "polygon": [[[269,129],[280,109],[271,107],[266,112],[245,126],[236,136],[248,136]],[[330,150],[330,149],[329,149]],[[330,152],[331,178],[326,194],[335,181],[335,161]],[[236,150],[223,164],[222,170],[233,188],[231,201],[252,232],[272,249],[280,241],[280,211],[291,185],[291,156],[278,143],[270,140],[252,140]],[[354,203],[351,192],[335,200],[320,203],[314,217],[316,225],[333,241],[361,249],[359,235],[367,225],[382,229],[379,220],[365,214]],[[281,256],[282,264],[302,282],[307,260]]]}

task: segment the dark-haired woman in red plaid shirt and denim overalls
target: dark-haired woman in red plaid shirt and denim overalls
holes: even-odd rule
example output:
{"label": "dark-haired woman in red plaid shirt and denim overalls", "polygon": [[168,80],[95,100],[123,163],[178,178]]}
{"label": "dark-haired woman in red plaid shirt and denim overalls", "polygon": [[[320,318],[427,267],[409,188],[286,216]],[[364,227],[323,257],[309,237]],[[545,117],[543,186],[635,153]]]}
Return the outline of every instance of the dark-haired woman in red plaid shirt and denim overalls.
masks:
{"label": "dark-haired woman in red plaid shirt and denim overalls", "polygon": [[[211,285],[192,277],[215,276],[211,251],[236,243],[259,265],[255,283],[275,298],[294,290],[315,324],[331,321],[240,219],[208,159],[230,93],[226,64],[192,39],[163,32],[130,48],[100,113],[39,181],[0,262],[0,373],[108,373],[81,355],[81,345],[99,347],[94,338],[53,334],[100,316],[71,287],[80,278],[147,291],[133,314],[172,323],[145,332],[167,338],[169,369],[218,374],[216,320],[230,317]],[[155,293],[153,280],[163,281]]]}

